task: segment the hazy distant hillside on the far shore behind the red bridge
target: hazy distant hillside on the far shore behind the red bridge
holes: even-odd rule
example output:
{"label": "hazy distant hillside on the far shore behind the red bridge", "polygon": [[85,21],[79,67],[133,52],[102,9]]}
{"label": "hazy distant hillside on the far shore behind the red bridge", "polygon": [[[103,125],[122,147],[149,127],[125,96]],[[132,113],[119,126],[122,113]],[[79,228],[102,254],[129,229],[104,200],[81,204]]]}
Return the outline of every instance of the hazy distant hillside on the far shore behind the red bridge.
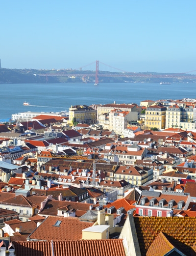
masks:
{"label": "hazy distant hillside on the far shore behind the red bridge", "polygon": [[[80,75],[75,77],[74,73]],[[40,74],[48,74],[48,76],[40,76]],[[49,74],[63,74],[63,76],[49,76]],[[88,74],[91,74],[93,76],[88,76]],[[107,74],[107,76],[101,77],[102,74]],[[110,77],[110,74],[110,72],[99,71],[99,83],[196,83],[196,76],[194,75],[192,76],[192,78],[188,77],[188,75],[185,75],[183,78],[178,78],[176,74],[174,74],[174,77],[170,78],[159,78],[156,76],[160,75],[161,73],[153,72],[137,73],[137,77],[127,77],[126,74],[124,74],[125,76],[122,77],[122,73],[115,73],[117,75],[116,77]],[[145,77],[145,75],[149,74],[150,77]],[[83,70],[37,70],[0,68],[0,84],[94,83],[94,75],[95,71]]]}

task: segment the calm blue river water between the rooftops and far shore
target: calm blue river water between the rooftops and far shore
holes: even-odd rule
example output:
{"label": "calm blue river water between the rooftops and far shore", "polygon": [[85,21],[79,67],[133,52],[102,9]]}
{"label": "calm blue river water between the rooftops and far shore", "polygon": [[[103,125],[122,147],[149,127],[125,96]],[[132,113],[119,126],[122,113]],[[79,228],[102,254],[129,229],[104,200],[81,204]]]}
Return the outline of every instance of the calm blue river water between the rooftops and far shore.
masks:
{"label": "calm blue river water between the rooftops and far shore", "polygon": [[[71,105],[137,103],[196,98],[196,84],[10,84],[0,85],[0,120],[20,112],[59,112]],[[31,106],[23,106],[23,102]]]}

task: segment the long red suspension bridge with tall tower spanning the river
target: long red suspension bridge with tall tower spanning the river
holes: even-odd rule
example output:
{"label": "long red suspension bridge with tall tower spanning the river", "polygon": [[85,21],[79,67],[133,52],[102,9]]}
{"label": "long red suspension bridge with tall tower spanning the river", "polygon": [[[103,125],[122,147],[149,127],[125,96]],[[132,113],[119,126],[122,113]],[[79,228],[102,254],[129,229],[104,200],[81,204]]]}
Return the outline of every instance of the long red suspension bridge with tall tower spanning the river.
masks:
{"label": "long red suspension bridge with tall tower spanning the river", "polygon": [[[101,65],[100,65],[101,64]],[[98,85],[99,78],[103,77],[111,77],[111,78],[157,78],[157,79],[196,79],[196,75],[190,74],[196,72],[196,70],[184,72],[184,73],[135,73],[135,72],[127,72],[121,70],[119,68],[112,67],[107,65],[103,62],[98,60],[87,64],[83,67],[78,69],[69,69],[69,70],[58,70],[56,72],[51,71],[50,73],[42,73],[39,76],[46,77],[78,77],[78,78],[85,78],[85,77],[94,77],[95,78],[95,85]]]}

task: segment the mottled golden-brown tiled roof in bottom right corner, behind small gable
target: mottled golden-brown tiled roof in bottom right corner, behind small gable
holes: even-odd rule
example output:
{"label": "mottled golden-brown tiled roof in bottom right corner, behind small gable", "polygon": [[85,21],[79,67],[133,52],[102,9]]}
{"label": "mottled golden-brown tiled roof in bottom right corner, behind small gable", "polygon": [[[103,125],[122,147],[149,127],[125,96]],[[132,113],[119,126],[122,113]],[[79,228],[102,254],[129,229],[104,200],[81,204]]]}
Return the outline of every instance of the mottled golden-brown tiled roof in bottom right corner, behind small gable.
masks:
{"label": "mottled golden-brown tiled roof in bottom right corner, behind small gable", "polygon": [[170,236],[172,241],[175,241],[175,245],[185,252],[185,255],[191,255],[196,241],[196,218],[133,216],[129,218],[134,219],[135,228],[139,230],[137,237],[142,256],[147,255],[147,250],[161,231]]}

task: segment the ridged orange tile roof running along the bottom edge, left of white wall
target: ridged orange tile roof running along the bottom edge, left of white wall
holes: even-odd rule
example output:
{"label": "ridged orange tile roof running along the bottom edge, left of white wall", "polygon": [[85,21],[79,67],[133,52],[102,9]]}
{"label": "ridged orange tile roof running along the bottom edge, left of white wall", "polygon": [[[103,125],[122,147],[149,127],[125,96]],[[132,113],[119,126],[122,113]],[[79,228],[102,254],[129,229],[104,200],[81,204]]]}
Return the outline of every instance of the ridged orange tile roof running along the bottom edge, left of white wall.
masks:
{"label": "ridged orange tile roof running along the bottom edge, left of white wall", "polygon": [[30,256],[125,256],[123,239],[36,241],[14,243],[16,255]]}

